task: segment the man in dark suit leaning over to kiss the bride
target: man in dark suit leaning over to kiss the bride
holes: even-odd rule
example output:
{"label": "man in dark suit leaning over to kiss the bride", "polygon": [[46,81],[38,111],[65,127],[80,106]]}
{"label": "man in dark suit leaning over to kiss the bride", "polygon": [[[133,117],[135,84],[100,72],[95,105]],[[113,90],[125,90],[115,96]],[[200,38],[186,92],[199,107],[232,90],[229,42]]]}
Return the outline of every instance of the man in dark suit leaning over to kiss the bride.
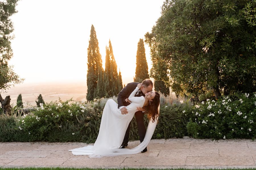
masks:
{"label": "man in dark suit leaning over to kiss the bride", "polygon": [[[128,111],[125,108],[125,106],[128,106],[131,101],[129,101],[128,97],[130,96],[130,94],[133,92],[133,90],[137,87],[139,83],[137,82],[131,82],[128,83],[125,88],[123,88],[121,90],[121,92],[119,92],[118,97],[117,97],[117,103],[118,103],[118,108],[121,111],[122,114],[127,114]],[[151,92],[153,88],[153,83],[150,79],[145,79],[142,82],[141,88],[138,90],[138,92],[135,94],[135,97],[140,97],[140,96],[145,96],[146,93]],[[146,127],[144,125],[144,111],[145,109],[141,108],[141,107],[137,107],[137,112],[135,112],[135,117],[136,117],[136,121],[137,121],[137,125],[138,125],[138,129],[139,129],[139,137],[140,137],[140,141],[142,142],[144,140],[144,137],[146,135]],[[125,137],[123,139],[123,143],[122,146],[120,148],[125,148],[125,146],[128,146],[128,141],[129,141],[129,134],[130,134],[130,126],[131,126],[131,122],[126,130],[125,133]],[[141,151],[146,152],[147,151],[147,147]]]}

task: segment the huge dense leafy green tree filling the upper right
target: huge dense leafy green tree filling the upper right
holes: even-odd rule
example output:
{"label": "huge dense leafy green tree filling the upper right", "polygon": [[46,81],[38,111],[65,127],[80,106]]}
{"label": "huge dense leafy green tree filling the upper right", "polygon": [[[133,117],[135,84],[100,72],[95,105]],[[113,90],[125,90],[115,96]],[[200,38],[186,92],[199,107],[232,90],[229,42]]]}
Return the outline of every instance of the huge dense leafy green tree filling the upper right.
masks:
{"label": "huge dense leafy green tree filling the upper right", "polygon": [[166,0],[146,33],[151,76],[178,94],[256,90],[255,0]]}

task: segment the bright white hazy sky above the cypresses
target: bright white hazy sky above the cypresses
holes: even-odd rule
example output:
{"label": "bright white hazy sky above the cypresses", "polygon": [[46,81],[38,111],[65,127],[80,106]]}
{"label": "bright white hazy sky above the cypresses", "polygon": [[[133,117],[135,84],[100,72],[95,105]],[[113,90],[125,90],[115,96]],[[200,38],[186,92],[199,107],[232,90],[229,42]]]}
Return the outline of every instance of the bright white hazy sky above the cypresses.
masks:
{"label": "bright white hazy sky above the cypresses", "polygon": [[[137,44],[161,15],[162,0],[20,0],[9,65],[24,83],[86,82],[87,48],[93,24],[103,66],[112,43],[123,84],[133,82]],[[149,70],[150,48],[145,44]],[[148,71],[149,71],[148,70]]]}

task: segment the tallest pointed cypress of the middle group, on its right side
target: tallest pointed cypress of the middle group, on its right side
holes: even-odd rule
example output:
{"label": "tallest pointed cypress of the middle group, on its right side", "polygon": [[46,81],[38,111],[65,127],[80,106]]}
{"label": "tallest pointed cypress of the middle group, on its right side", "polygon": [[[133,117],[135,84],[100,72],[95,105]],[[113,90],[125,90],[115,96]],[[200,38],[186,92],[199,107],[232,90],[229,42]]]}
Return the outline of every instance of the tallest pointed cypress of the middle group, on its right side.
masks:
{"label": "tallest pointed cypress of the middle group, on its right side", "polygon": [[109,40],[109,56],[110,56],[110,80],[111,80],[111,95],[117,96],[119,93],[119,76],[117,73],[117,65],[113,54],[112,44]]}

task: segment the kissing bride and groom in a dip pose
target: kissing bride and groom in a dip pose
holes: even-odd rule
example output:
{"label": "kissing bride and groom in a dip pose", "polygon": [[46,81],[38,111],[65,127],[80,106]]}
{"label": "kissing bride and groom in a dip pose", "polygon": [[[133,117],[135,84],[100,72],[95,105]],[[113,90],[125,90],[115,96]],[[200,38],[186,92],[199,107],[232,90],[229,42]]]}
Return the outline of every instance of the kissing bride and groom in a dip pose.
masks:
{"label": "kissing bride and groom in a dip pose", "polygon": [[[119,92],[117,103],[109,99],[104,107],[100,130],[94,145],[71,149],[73,155],[89,155],[90,158],[103,156],[118,156],[146,152],[146,146],[156,128],[160,95],[153,92],[153,83],[150,79],[142,83],[128,83]],[[143,121],[144,112],[148,114],[149,123],[146,129]],[[128,138],[131,120],[135,114],[141,144],[128,149]]]}

